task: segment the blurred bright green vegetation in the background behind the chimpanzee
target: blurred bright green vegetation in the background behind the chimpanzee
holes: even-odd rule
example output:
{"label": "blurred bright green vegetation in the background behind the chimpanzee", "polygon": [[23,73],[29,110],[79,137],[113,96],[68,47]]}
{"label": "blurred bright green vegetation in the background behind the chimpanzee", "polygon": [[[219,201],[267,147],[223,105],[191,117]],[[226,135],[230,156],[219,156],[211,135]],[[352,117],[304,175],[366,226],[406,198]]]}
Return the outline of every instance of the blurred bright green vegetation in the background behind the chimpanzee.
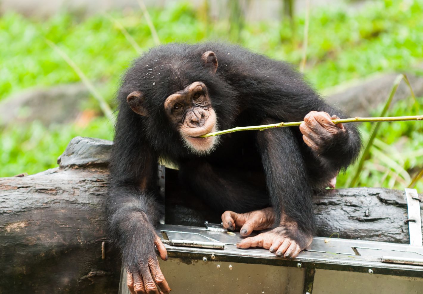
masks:
{"label": "blurred bright green vegetation in the background behind the chimpanzee", "polygon": [[[294,18],[293,36],[288,20],[239,21],[241,25],[235,29],[232,19],[212,19],[206,11],[207,7],[194,9],[175,2],[149,13],[162,43],[233,41],[272,58],[299,64],[304,17]],[[14,13],[4,14],[0,18],[0,100],[32,86],[80,81],[45,42],[49,39],[69,55],[88,79],[107,85],[98,90],[113,108],[121,74],[137,57],[137,50],[148,50],[154,40],[141,10],[110,15],[112,18],[60,14],[40,22]],[[138,46],[128,41],[121,26]],[[319,90],[374,72],[409,70],[423,61],[423,0],[379,0],[358,11],[339,7],[312,9],[308,35],[305,75]],[[93,97],[85,107],[100,112]],[[417,114],[414,107],[412,100],[401,101],[391,106],[387,115]],[[379,113],[376,110],[374,115]],[[370,129],[370,124],[361,126],[363,137]],[[56,158],[74,136],[113,136],[113,126],[104,117],[93,119],[84,127],[44,127],[33,122],[30,126],[9,125],[1,131],[0,176],[31,174],[56,166]],[[421,146],[421,123],[382,123],[359,185],[404,188],[423,168]],[[351,176],[350,170],[339,177],[341,186]],[[422,181],[417,188],[423,191]]]}

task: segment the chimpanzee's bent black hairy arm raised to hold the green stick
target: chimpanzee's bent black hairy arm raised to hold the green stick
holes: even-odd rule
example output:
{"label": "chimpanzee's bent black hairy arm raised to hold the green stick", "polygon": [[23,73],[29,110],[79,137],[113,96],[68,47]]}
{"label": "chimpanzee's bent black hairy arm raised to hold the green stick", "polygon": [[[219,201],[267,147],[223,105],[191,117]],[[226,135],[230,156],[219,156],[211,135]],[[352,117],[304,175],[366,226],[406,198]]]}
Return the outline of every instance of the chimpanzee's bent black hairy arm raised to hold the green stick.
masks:
{"label": "chimpanzee's bent black hairy arm raised to hold the green stick", "polygon": [[[322,112],[339,118],[346,116],[322,100],[304,81],[302,75],[294,71],[290,65],[267,58],[266,62],[269,62],[266,71],[258,72],[251,69],[247,75],[242,76],[242,87],[239,87],[239,90],[242,97],[249,97],[250,108],[284,122],[305,120],[310,128],[302,128],[301,131],[308,131],[310,135],[321,137],[320,140],[316,140],[318,144],[311,147],[314,155],[312,160],[316,161],[313,162],[314,170],[320,168],[320,172],[329,176],[345,169],[360,151],[361,141],[356,126],[345,124],[340,129],[341,125],[334,125],[338,128],[333,128],[331,136],[326,136],[327,132],[322,128],[319,133],[316,124],[321,126],[319,121],[324,119]],[[313,114],[310,114],[311,111],[314,111]],[[327,179],[323,179],[325,180]]]}

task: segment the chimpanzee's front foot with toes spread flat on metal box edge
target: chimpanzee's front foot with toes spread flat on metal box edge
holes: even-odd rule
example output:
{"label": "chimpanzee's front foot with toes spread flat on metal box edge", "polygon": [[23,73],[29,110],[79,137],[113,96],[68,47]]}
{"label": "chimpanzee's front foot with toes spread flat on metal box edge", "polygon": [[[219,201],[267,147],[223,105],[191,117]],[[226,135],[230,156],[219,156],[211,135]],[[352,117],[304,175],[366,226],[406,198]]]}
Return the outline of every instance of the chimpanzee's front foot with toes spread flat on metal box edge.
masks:
{"label": "chimpanzee's front foot with toes spread flat on metal box edge", "polygon": [[279,227],[248,237],[238,242],[236,247],[242,249],[262,247],[279,257],[296,258],[299,252],[310,246],[313,236],[302,232],[296,222],[286,219],[286,216],[283,216]]}

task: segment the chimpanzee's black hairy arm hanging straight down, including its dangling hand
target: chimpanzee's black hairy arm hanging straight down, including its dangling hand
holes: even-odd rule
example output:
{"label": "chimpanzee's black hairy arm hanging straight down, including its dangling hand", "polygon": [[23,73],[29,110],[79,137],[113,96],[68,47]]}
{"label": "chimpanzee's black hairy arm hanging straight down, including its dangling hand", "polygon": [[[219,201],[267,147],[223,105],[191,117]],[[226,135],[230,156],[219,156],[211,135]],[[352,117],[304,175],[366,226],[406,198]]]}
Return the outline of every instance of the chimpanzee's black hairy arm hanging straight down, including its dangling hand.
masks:
{"label": "chimpanzee's black hairy arm hanging straight down, including its dangling hand", "polygon": [[[119,113],[124,115],[124,111]],[[120,247],[128,271],[131,292],[168,293],[169,286],[160,271],[154,245],[162,259],[166,249],[156,235],[159,216],[155,201],[157,156],[144,144],[137,122],[128,122],[132,114],[118,119],[110,164],[107,200],[108,225],[113,241]],[[134,292],[134,293],[135,293]]]}

